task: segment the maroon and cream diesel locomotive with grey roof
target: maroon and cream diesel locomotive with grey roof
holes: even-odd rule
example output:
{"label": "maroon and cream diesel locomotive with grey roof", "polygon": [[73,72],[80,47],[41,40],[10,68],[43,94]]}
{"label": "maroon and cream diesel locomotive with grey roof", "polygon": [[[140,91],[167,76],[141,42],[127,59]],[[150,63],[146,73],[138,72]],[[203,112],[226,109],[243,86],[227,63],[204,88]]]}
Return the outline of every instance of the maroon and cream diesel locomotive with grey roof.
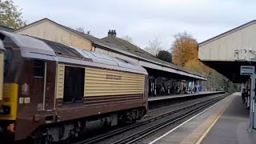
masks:
{"label": "maroon and cream diesel locomotive with grey roof", "polygon": [[5,31],[0,38],[0,143],[58,142],[146,114],[142,66]]}

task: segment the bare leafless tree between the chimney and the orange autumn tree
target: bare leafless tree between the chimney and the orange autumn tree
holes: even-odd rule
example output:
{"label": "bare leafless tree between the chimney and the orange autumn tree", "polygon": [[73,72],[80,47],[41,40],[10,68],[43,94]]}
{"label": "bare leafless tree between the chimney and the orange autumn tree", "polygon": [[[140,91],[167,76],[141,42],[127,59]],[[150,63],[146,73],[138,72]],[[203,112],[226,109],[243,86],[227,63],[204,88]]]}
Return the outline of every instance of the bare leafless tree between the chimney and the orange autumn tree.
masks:
{"label": "bare leafless tree between the chimney and the orange autumn tree", "polygon": [[160,50],[162,50],[162,42],[158,38],[154,38],[153,41],[149,41],[149,46],[146,46],[144,50],[156,56]]}

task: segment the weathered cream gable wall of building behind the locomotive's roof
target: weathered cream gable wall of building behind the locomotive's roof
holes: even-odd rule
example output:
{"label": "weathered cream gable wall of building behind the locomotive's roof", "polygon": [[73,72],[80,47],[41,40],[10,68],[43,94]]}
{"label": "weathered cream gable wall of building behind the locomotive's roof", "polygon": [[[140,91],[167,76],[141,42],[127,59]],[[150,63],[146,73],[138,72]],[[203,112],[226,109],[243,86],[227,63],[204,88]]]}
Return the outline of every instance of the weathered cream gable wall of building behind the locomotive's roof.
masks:
{"label": "weathered cream gable wall of building behind the locomotive's roof", "polygon": [[73,34],[70,31],[63,29],[61,26],[49,21],[32,24],[31,26],[15,31],[14,33],[27,34],[37,38],[44,38],[50,41],[80,47],[84,50],[92,50],[92,43],[89,40],[86,40],[77,34]]}

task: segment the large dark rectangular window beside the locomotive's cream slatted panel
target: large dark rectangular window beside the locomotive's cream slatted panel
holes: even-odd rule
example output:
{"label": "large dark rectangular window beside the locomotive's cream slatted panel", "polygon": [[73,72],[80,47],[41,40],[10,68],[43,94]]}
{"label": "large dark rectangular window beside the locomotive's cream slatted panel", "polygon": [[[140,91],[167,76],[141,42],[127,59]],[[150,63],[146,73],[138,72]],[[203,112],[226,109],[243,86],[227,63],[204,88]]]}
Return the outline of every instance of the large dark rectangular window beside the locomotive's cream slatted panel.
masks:
{"label": "large dark rectangular window beside the locomotive's cream slatted panel", "polygon": [[63,102],[82,102],[84,92],[85,69],[65,66]]}

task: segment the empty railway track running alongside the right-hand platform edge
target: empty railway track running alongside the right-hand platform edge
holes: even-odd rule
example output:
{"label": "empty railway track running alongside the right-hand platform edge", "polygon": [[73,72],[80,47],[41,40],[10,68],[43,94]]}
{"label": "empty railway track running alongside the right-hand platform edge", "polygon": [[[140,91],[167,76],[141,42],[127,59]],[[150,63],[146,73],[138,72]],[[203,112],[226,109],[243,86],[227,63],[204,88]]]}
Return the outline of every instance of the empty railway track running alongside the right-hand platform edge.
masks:
{"label": "empty railway track running alongside the right-hand platform edge", "polygon": [[[183,110],[191,109],[191,110],[188,110],[184,113],[178,114],[178,116],[175,116],[174,118],[170,118],[170,119],[167,119],[165,121],[159,122],[157,125],[147,127],[146,129],[140,130],[140,131],[138,131],[134,134],[130,134],[126,138],[121,138],[118,141],[113,142],[113,144],[116,144],[116,143],[133,143],[133,142],[138,141],[141,138],[146,137],[149,134],[154,133],[157,130],[161,130],[163,127],[169,126],[170,124],[172,124],[174,122],[178,122],[182,118],[186,118],[190,114],[194,114],[194,113],[198,112],[199,110],[205,109],[207,106],[210,106],[210,105],[214,104],[215,102],[218,102],[218,101],[222,100],[223,98],[226,98],[227,95],[230,95],[230,94],[222,94],[221,96],[219,96],[217,98],[210,98],[210,99],[207,99],[207,100],[202,101],[202,102],[196,102],[196,103],[190,104],[188,106],[182,106],[181,108],[178,108],[176,110],[171,110],[170,112],[166,112],[165,114],[158,115],[154,118],[148,118],[145,121],[134,123],[134,124],[131,124],[129,126],[124,126],[124,127],[118,128],[116,130],[112,130],[109,133],[99,134],[98,136],[96,136],[94,138],[87,138],[86,140],[82,140],[82,141],[76,142],[76,143],[80,144],[80,143],[101,142],[101,141],[103,141],[107,138],[114,137],[117,134],[122,134],[123,132],[126,132],[127,130],[132,130],[132,129],[138,127],[138,126],[144,126],[144,125],[146,125],[150,122],[158,121],[159,119],[165,118],[165,117],[167,117],[171,114],[175,114],[175,113],[181,112]],[[159,110],[162,110],[162,109],[159,109]]]}

